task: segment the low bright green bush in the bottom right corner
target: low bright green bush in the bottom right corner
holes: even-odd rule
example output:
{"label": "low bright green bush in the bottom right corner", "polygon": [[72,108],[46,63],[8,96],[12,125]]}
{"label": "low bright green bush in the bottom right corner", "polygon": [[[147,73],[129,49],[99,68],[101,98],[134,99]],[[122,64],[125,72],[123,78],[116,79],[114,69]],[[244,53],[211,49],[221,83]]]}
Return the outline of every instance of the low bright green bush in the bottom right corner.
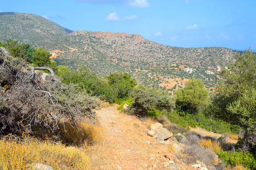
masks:
{"label": "low bright green bush in the bottom right corner", "polygon": [[226,152],[226,151],[216,151],[216,154],[220,156],[226,164],[230,166],[243,165],[243,167],[256,169],[256,160],[250,152]]}

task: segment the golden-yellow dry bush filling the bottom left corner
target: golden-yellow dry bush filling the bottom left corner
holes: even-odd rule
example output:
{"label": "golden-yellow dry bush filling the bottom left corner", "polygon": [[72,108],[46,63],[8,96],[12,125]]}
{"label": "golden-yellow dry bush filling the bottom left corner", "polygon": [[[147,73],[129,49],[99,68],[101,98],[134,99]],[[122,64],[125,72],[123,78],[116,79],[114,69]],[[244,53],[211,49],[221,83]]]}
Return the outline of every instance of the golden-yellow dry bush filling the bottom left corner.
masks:
{"label": "golden-yellow dry bush filling the bottom left corner", "polygon": [[23,143],[0,141],[0,169],[29,169],[42,163],[53,169],[91,169],[89,156],[75,147],[32,139]]}

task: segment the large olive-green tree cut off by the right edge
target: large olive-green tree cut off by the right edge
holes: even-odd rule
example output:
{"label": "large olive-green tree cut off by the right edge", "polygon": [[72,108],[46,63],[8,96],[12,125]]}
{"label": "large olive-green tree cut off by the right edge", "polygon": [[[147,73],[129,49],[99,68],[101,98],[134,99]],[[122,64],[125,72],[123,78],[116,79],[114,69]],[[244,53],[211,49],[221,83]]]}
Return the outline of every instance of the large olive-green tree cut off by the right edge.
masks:
{"label": "large olive-green tree cut off by the right edge", "polygon": [[225,83],[218,84],[212,98],[214,116],[240,125],[244,130],[242,150],[256,154],[256,54],[249,48],[223,69]]}

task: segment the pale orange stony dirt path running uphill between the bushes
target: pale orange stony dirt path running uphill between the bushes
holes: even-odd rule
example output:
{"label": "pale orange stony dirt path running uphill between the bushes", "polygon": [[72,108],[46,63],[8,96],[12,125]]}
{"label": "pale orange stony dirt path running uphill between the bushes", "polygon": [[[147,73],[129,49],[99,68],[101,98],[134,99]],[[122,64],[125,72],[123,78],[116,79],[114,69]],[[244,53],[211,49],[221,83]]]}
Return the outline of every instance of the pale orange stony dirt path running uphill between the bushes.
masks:
{"label": "pale orange stony dirt path running uphill between the bushes", "polygon": [[[102,165],[100,169],[167,169],[164,167],[169,165],[169,160],[164,158],[167,146],[149,137],[142,121],[119,113],[117,106],[96,111],[108,141],[102,153],[107,154],[110,161],[110,167]],[[188,169],[179,165],[177,168]]]}

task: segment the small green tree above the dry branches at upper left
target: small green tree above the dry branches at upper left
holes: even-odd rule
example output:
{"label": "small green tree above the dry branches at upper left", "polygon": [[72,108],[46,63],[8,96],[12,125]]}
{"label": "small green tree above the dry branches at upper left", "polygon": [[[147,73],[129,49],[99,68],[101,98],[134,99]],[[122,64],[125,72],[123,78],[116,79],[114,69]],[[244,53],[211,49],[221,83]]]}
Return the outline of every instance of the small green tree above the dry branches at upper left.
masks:
{"label": "small green tree above the dry branches at upper left", "polygon": [[51,54],[45,50],[43,47],[39,47],[35,49],[32,54],[32,62],[37,64],[38,66],[47,66],[50,63]]}

